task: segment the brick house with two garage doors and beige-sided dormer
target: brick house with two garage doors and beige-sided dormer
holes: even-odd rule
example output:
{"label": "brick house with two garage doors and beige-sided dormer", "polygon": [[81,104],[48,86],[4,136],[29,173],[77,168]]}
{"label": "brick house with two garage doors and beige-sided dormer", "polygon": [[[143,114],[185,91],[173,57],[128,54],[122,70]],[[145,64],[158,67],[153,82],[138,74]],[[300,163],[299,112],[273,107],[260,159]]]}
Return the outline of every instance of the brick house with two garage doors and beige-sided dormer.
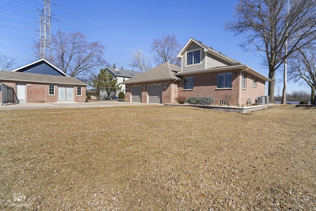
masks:
{"label": "brick house with two garage doors and beige-sided dormer", "polygon": [[215,105],[246,106],[265,95],[270,79],[191,38],[181,68],[164,63],[122,84],[125,101],[175,103],[178,96],[213,97]]}

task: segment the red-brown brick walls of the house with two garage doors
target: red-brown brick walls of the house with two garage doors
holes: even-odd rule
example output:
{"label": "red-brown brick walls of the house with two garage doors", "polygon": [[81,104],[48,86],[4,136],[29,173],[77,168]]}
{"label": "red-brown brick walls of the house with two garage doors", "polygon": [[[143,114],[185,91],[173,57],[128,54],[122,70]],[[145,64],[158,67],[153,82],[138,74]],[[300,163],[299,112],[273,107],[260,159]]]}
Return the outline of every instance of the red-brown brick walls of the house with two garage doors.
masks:
{"label": "red-brown brick walls of the house with two garage doors", "polygon": [[[236,72],[236,75],[235,75]],[[173,81],[159,81],[155,84],[166,83],[166,88],[162,88],[162,103],[176,103],[176,98],[178,96],[191,97],[213,97],[215,102],[213,105],[219,105],[220,100],[227,100],[230,106],[238,106],[239,103],[239,84],[240,84],[240,70],[227,71],[221,73],[232,73],[232,88],[217,88],[217,74],[218,73],[202,73],[188,75],[194,77],[194,88],[192,90],[183,89],[183,76],[181,76],[181,81],[174,82],[174,92],[172,94],[172,84]],[[251,99],[252,103],[256,101],[258,96],[265,94],[265,82],[257,79],[257,87],[253,87],[254,77],[250,74],[246,75],[246,88],[240,90],[240,105],[246,106],[248,98]],[[149,84],[154,84],[154,82],[148,83],[136,83],[136,84],[126,84],[129,85],[129,89],[126,90],[125,101],[131,101],[130,87],[131,85],[146,85],[146,89],[142,89],[142,102],[147,103],[147,90]],[[172,101],[173,95],[173,101]]]}

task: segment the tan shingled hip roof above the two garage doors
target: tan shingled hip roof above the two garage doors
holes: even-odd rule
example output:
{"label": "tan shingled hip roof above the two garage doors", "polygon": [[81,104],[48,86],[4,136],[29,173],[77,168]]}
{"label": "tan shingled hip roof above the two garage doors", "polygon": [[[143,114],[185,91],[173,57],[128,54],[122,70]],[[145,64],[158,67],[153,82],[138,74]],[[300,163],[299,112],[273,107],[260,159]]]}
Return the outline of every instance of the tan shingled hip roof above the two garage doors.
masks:
{"label": "tan shingled hip roof above the two garage doors", "polygon": [[163,80],[176,80],[180,79],[175,76],[177,72],[180,72],[181,68],[171,64],[170,62],[165,62],[158,65],[144,73],[141,73],[131,79],[128,79],[121,84],[132,84],[132,83],[143,83],[143,82],[154,82]]}

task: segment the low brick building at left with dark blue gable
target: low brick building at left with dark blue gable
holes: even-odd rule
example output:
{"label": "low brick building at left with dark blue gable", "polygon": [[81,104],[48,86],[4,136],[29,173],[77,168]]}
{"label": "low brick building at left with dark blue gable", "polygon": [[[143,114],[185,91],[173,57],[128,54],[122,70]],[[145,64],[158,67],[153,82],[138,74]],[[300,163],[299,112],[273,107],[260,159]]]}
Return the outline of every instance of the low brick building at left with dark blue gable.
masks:
{"label": "low brick building at left with dark blue gable", "polygon": [[87,84],[68,77],[44,59],[13,71],[0,71],[0,83],[13,88],[14,101],[19,103],[85,102]]}

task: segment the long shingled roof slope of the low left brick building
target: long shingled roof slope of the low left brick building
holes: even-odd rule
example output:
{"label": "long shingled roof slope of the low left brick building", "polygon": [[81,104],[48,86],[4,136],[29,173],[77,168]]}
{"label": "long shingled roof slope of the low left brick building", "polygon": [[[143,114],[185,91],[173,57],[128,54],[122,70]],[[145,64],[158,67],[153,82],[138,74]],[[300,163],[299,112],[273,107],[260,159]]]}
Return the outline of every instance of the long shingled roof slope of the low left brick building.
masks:
{"label": "long shingled roof slope of the low left brick building", "polygon": [[87,84],[79,81],[74,77],[66,76],[51,76],[35,73],[21,73],[12,71],[0,71],[1,81],[14,81],[25,83],[44,83],[44,84],[65,84],[65,85],[80,85],[86,86]]}

